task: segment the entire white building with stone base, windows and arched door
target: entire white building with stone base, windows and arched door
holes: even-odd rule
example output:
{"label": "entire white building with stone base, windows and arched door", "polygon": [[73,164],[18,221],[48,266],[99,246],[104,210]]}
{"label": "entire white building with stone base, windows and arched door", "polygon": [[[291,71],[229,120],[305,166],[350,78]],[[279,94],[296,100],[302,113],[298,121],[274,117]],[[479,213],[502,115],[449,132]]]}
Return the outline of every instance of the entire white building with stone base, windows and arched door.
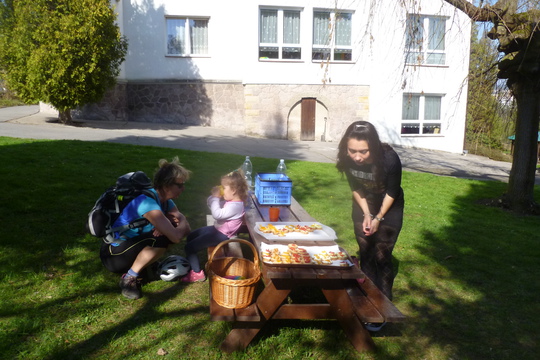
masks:
{"label": "entire white building with stone base, windows and arched door", "polygon": [[391,144],[463,150],[471,24],[442,0],[111,3],[128,55],[86,117],[307,141],[367,120]]}

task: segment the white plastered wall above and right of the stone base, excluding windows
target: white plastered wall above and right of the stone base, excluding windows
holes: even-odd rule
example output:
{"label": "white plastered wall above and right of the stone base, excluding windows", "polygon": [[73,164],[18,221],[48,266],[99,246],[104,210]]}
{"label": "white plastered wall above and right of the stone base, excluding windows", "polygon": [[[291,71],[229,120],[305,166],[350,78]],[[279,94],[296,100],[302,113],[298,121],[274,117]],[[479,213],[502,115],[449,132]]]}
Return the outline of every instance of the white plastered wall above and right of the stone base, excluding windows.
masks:
{"label": "white plastered wall above and right of the stone base, excluding windows", "polygon": [[[259,60],[259,4],[303,9],[302,61]],[[324,79],[330,85],[369,85],[369,120],[384,141],[458,153],[463,149],[470,21],[442,0],[421,0],[418,6],[423,14],[444,14],[451,19],[447,66],[443,67],[404,66],[405,13],[395,0],[120,0],[117,6],[121,28],[129,39],[121,73],[124,79],[313,85]],[[312,23],[314,8],[354,10],[353,62],[321,66],[311,61],[311,26],[306,24]],[[210,54],[165,56],[165,16],[169,15],[208,16]],[[445,94],[439,135],[400,134],[403,92]]]}

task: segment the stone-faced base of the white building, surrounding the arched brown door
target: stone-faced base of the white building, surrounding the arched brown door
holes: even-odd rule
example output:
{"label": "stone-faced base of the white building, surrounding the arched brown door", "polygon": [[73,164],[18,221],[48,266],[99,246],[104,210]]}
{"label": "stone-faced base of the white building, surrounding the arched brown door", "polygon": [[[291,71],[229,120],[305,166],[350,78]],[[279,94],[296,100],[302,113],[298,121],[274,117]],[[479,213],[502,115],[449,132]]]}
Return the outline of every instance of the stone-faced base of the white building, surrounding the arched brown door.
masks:
{"label": "stone-faced base of the white building, surrounding the arched brown door", "polygon": [[250,136],[297,140],[302,98],[317,100],[316,140],[337,141],[355,120],[369,120],[369,87],[240,82],[119,83],[75,118],[212,126]]}

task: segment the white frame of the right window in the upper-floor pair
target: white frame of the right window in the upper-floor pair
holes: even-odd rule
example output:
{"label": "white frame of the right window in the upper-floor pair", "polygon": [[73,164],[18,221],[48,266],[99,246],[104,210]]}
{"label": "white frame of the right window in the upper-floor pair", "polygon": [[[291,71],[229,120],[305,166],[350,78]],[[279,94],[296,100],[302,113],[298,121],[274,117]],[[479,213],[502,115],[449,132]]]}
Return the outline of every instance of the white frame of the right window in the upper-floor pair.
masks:
{"label": "white frame of the right window in the upper-floor pair", "polygon": [[[325,41],[325,43],[315,43],[316,42],[316,25],[315,21],[317,19],[316,13],[327,13],[329,14],[329,22],[328,22],[328,41]],[[344,15],[350,17],[350,33],[349,36],[349,45],[342,45],[342,44],[336,44],[336,16]],[[354,12],[348,11],[348,10],[334,10],[334,9],[314,9],[313,10],[313,22],[311,24],[311,29],[313,32],[313,36],[311,39],[311,60],[313,62],[323,62],[323,61],[331,61],[331,62],[345,62],[350,63],[353,62],[353,46],[352,46],[352,36],[354,34],[353,29],[353,20],[354,20]],[[348,59],[336,59],[336,54],[343,53],[343,54],[349,54]]]}

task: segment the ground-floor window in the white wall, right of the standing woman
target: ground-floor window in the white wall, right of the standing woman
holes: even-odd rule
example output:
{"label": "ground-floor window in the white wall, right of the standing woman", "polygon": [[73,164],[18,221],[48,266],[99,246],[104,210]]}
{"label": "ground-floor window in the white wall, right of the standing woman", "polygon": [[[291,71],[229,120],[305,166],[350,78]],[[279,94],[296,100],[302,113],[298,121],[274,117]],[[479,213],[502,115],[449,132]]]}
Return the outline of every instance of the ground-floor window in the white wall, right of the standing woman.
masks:
{"label": "ground-floor window in the white wall, right of the standing woman", "polygon": [[441,95],[403,94],[401,134],[439,134]]}

